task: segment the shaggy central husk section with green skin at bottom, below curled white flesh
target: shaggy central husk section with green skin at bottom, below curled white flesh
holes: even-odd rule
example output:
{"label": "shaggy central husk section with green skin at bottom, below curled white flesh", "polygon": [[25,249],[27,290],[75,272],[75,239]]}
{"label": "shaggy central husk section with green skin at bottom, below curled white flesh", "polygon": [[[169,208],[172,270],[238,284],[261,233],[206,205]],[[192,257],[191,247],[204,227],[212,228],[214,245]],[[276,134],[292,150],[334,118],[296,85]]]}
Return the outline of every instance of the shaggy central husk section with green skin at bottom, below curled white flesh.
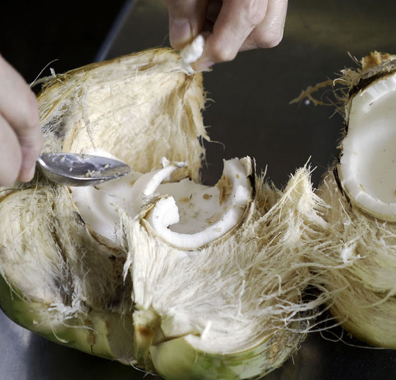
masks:
{"label": "shaggy central husk section with green skin at bottom, below curled white flesh", "polygon": [[199,250],[153,239],[144,214],[122,215],[138,360],[166,379],[265,375],[313,325],[323,299],[304,299],[311,281],[305,260],[325,226],[323,204],[306,168],[283,192],[259,177],[255,184],[238,230]]}

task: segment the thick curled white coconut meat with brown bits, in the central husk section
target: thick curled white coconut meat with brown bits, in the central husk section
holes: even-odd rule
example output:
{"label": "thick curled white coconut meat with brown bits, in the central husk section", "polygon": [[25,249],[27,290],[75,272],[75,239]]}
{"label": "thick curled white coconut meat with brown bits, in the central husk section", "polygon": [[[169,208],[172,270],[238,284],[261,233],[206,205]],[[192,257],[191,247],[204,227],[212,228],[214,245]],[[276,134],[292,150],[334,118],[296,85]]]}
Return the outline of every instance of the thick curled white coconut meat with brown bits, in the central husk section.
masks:
{"label": "thick curled white coconut meat with brown bits, in the central husk section", "polygon": [[[159,237],[178,248],[190,250],[206,245],[226,234],[242,219],[250,200],[247,176],[240,159],[224,161],[222,179],[211,191],[206,191],[206,187],[196,189],[181,183],[186,189],[190,188],[185,194],[185,199],[190,200],[183,210],[181,226],[176,226],[174,231],[169,228],[180,221],[173,196],[162,198],[155,204],[148,215],[148,222]],[[210,199],[215,202],[208,202]]]}

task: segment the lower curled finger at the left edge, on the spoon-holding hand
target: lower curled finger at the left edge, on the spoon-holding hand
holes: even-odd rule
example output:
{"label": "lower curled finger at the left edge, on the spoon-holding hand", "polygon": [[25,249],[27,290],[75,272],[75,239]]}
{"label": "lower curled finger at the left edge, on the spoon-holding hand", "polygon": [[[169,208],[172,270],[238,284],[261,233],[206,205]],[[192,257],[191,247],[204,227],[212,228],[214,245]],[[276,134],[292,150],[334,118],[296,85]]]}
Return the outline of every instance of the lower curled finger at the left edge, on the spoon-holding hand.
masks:
{"label": "lower curled finger at the left edge, on the spoon-holding hand", "polygon": [[22,163],[18,138],[0,115],[0,186],[11,185],[17,178]]}

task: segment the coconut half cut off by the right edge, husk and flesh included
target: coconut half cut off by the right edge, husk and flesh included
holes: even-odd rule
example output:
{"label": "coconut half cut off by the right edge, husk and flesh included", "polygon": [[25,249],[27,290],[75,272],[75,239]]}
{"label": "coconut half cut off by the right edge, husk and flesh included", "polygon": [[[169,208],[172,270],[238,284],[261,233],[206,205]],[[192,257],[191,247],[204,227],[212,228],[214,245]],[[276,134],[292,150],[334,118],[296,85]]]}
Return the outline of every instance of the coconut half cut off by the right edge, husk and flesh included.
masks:
{"label": "coconut half cut off by the right edge, husk and flesh included", "polygon": [[346,128],[319,189],[328,228],[311,260],[345,329],[388,348],[396,348],[395,58],[373,52],[338,80],[348,89]]}

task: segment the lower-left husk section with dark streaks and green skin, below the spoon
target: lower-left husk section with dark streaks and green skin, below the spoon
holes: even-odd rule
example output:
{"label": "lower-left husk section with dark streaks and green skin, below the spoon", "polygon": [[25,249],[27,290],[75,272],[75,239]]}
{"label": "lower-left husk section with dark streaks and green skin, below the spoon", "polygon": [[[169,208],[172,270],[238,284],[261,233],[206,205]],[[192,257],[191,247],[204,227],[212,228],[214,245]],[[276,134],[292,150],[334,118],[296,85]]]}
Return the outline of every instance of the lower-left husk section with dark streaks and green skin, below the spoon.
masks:
{"label": "lower-left husk section with dark streaks and green skin, below the spoon", "polygon": [[133,363],[133,349],[119,350],[133,347],[125,253],[91,236],[62,187],[15,190],[0,215],[4,312],[50,340]]}

